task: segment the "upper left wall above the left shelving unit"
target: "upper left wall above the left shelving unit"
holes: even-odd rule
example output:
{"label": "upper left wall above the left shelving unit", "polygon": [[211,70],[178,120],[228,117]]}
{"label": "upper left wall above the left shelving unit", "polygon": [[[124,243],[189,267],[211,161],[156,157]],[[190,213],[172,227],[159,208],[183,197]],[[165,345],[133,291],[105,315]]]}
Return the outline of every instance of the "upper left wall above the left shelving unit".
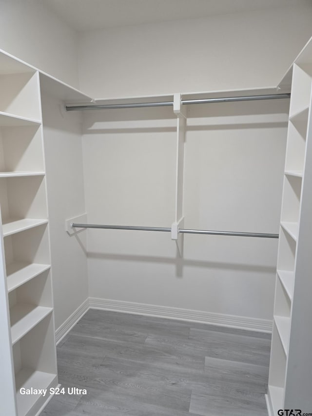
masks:
{"label": "upper left wall above the left shelving unit", "polygon": [[0,49],[78,87],[77,35],[41,0],[0,1]]}

